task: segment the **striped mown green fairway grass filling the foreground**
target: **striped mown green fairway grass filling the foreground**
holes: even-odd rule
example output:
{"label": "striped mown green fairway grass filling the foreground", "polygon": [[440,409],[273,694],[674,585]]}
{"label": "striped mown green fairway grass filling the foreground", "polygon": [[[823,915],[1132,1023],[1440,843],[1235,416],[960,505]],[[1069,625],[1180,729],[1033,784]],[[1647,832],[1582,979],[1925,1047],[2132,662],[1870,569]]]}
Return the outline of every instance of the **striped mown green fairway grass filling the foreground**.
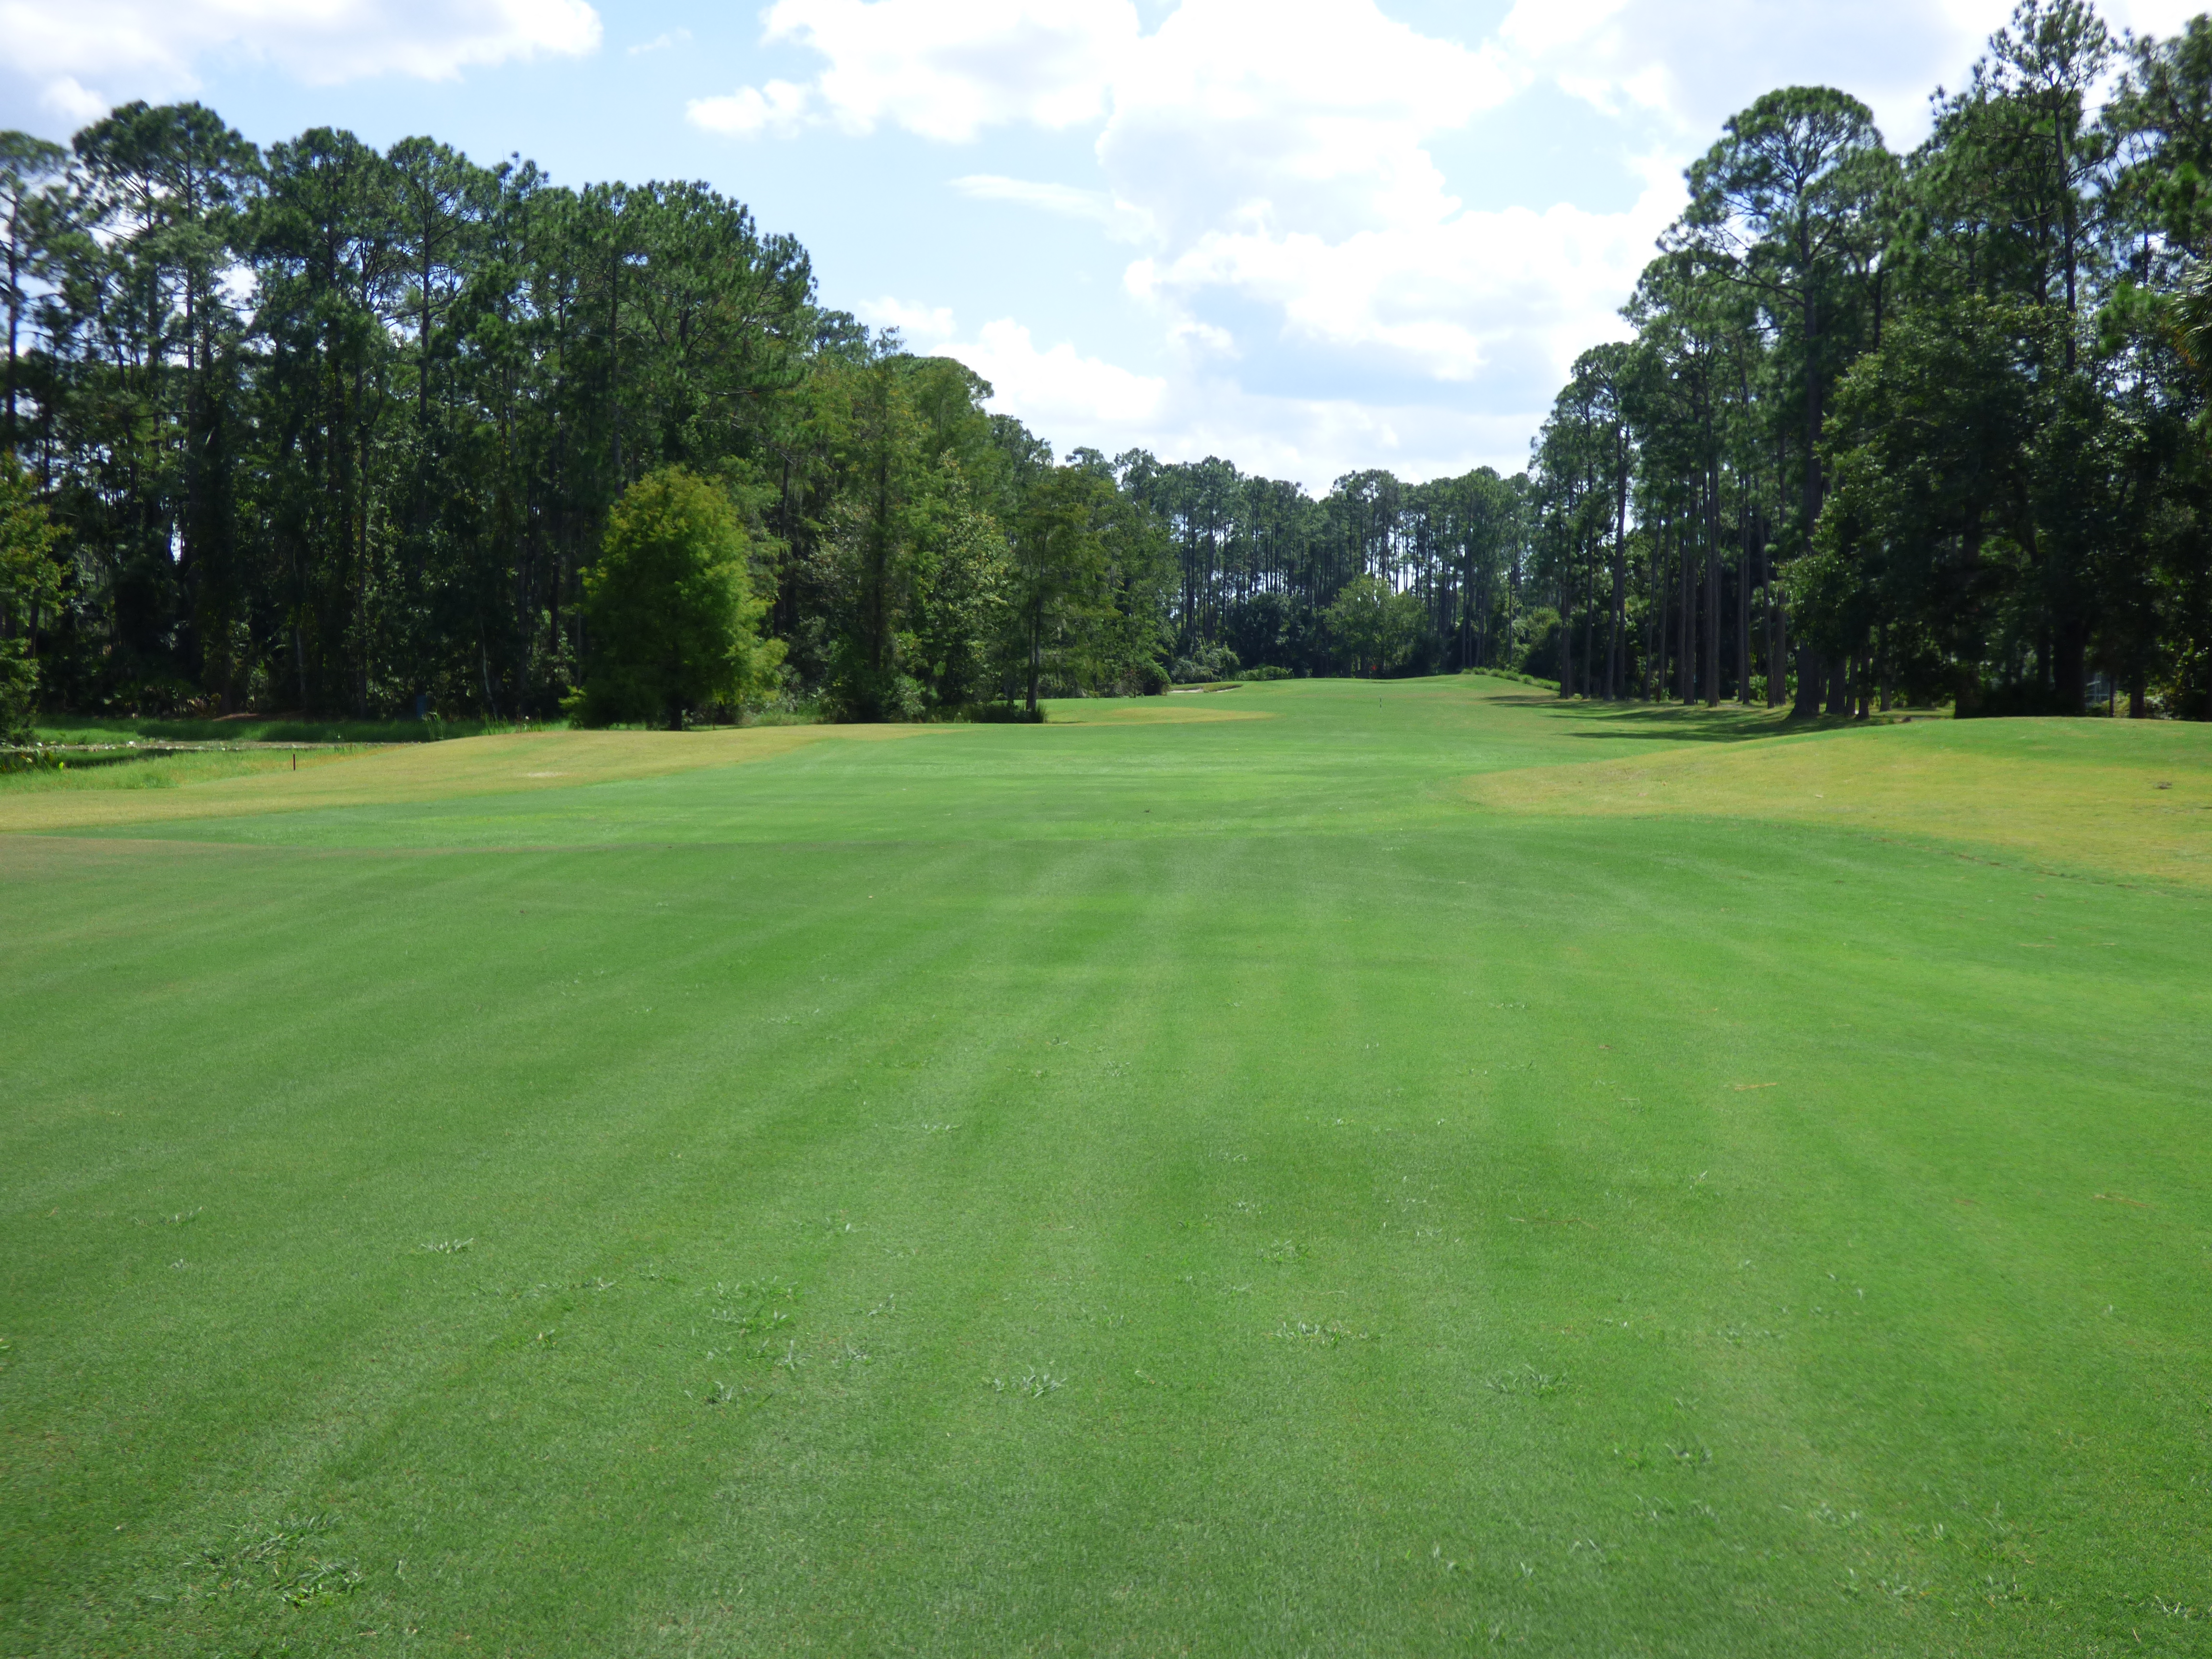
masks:
{"label": "striped mown green fairway grass filling the foreground", "polygon": [[0,1650],[2203,1650],[2212,887],[1053,712],[0,838]]}

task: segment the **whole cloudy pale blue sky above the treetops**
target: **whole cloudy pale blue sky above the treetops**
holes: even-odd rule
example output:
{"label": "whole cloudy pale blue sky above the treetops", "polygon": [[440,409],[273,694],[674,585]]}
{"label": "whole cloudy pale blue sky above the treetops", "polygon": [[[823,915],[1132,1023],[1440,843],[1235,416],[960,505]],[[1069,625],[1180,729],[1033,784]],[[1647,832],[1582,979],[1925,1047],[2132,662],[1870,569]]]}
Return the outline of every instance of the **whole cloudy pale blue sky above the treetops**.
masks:
{"label": "whole cloudy pale blue sky above the treetops", "polygon": [[[1759,93],[1898,146],[2002,0],[0,0],[0,126],[199,97],[566,184],[695,177],[1062,451],[1517,469]],[[2110,4],[2170,33],[2172,0]]]}

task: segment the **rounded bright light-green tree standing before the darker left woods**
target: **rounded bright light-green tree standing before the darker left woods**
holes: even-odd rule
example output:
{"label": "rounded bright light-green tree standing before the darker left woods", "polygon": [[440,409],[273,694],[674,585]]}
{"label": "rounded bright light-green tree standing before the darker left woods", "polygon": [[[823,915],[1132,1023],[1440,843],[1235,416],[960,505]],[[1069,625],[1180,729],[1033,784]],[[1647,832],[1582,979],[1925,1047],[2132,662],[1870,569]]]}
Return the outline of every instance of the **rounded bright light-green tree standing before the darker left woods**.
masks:
{"label": "rounded bright light-green tree standing before the darker left woods", "polygon": [[684,717],[712,706],[743,712],[783,661],[761,639],[745,531],[728,495],[664,467],[630,484],[584,571],[588,659],[564,703],[584,726]]}

